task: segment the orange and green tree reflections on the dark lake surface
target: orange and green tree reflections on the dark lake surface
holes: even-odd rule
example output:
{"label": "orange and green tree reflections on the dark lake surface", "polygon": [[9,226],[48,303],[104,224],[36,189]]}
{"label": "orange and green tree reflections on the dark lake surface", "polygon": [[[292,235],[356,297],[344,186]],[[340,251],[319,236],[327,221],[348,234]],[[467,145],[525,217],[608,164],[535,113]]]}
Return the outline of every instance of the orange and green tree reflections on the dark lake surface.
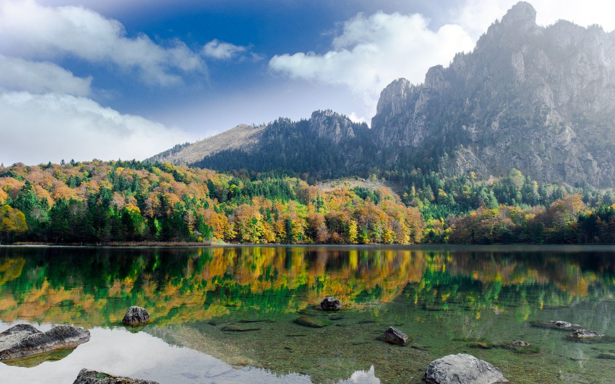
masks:
{"label": "orange and green tree reflections on the dark lake surface", "polygon": [[[338,296],[355,307],[451,303],[525,319],[613,291],[609,253],[489,253],[370,248],[0,249],[0,315],[116,324],[143,305],[157,324],[231,313],[288,313]],[[405,299],[404,299],[405,300]]]}

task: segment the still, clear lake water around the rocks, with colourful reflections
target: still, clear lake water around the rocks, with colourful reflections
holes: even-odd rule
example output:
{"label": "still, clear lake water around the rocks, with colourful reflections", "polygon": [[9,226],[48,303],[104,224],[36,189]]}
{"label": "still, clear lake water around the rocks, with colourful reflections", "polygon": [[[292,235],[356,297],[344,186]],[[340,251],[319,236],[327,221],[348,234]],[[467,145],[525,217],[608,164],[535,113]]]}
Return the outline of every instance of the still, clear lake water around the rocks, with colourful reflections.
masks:
{"label": "still, clear lake water around the rocks, with colourful reflections", "polygon": [[[317,310],[324,296],[342,310]],[[130,305],[153,323],[122,326]],[[606,336],[579,342],[550,320]],[[615,383],[615,248],[0,247],[0,332],[23,322],[92,338],[0,363],[2,383],[72,383],[82,368],[161,384],[421,383],[450,353],[514,383]],[[388,326],[405,347],[381,339]]]}

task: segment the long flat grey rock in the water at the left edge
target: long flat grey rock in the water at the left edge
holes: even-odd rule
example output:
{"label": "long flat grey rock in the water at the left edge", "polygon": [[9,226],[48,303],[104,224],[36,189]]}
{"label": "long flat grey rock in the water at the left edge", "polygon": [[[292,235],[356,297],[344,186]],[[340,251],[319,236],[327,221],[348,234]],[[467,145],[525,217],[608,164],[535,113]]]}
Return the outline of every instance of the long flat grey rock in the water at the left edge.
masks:
{"label": "long flat grey rock in the water at the left edge", "polygon": [[23,358],[60,348],[73,348],[90,340],[90,331],[69,325],[41,332],[28,324],[17,324],[0,334],[0,360]]}

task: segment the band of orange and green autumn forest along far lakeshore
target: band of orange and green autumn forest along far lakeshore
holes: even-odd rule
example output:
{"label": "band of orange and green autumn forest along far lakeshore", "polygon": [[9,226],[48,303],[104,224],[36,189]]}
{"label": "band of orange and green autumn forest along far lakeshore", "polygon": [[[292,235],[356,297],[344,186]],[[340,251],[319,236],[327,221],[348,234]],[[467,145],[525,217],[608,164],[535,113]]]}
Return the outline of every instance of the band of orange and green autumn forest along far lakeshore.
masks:
{"label": "band of orange and green autumn forest along far lakeshore", "polygon": [[93,160],[0,167],[0,243],[615,243],[615,198],[518,170],[367,180]]}

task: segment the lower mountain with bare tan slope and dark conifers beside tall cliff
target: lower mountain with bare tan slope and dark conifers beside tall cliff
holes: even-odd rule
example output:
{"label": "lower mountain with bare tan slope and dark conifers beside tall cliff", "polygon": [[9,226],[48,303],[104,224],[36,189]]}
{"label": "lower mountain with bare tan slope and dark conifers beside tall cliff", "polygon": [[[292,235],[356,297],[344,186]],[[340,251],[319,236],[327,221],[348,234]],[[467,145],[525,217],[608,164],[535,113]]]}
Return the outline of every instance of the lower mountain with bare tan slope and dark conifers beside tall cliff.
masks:
{"label": "lower mountain with bare tan slope and dark conifers beside tall cliff", "polygon": [[282,170],[331,178],[362,172],[376,152],[367,124],[327,110],[315,111],[309,119],[299,121],[280,118],[261,127],[240,125],[149,160],[225,171]]}

